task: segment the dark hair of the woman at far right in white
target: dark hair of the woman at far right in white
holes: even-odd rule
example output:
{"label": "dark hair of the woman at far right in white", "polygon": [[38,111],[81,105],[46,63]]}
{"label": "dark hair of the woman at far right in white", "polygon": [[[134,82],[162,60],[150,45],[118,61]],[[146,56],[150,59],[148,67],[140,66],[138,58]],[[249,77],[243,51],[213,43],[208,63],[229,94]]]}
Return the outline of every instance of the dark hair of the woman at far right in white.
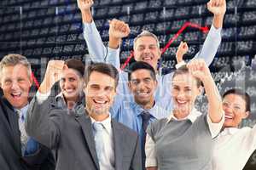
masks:
{"label": "dark hair of the woman at far right in white", "polygon": [[241,88],[231,88],[222,95],[222,99],[224,99],[224,97],[229,94],[236,94],[241,96],[241,98],[246,102],[246,111],[251,111],[251,98],[246,91],[242,90]]}

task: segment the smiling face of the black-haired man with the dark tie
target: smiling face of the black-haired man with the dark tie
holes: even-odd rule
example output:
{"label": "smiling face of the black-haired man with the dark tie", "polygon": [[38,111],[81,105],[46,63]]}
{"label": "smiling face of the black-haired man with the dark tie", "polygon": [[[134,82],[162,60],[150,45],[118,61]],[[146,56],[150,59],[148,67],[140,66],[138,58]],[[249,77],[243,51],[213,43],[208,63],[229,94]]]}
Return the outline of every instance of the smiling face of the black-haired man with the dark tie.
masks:
{"label": "smiling face of the black-haired man with the dark tie", "polygon": [[150,71],[145,69],[133,71],[128,86],[138,105],[150,107],[154,104],[154,90],[157,82],[150,75]]}

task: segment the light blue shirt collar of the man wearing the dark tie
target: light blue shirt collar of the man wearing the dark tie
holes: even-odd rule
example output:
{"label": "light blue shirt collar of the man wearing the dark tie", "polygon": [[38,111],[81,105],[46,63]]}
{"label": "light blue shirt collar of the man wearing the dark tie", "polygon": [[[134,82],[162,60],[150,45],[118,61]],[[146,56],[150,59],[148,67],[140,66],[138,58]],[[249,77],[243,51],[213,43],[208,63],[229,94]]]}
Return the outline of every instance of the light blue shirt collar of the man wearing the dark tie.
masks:
{"label": "light blue shirt collar of the man wearing the dark tie", "polygon": [[[132,105],[132,106],[135,108],[135,110],[136,110],[136,111],[135,111],[136,116],[140,116],[144,111],[148,111],[148,113],[149,113],[151,116],[154,116],[154,118],[156,118],[156,119],[161,119],[161,118],[163,118],[163,115],[165,115],[165,114],[162,113],[162,112],[165,111],[165,110],[163,110],[163,109],[158,105],[158,103],[155,102],[155,101],[154,101],[153,107],[152,107],[151,109],[149,109],[149,110],[143,109],[143,107],[142,107],[141,105],[137,105],[136,102],[132,102],[131,105]],[[159,113],[161,113],[161,114],[159,114]]]}

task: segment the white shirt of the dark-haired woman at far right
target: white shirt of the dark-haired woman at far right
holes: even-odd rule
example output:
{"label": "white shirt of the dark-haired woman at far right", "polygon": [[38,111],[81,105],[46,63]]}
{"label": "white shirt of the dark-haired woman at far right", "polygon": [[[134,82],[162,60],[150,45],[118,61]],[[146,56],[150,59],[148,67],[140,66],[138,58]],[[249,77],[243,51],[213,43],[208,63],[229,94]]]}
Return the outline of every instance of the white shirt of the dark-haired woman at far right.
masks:
{"label": "white shirt of the dark-haired woman at far right", "polygon": [[241,170],[256,149],[256,125],[224,128],[213,141],[212,169]]}

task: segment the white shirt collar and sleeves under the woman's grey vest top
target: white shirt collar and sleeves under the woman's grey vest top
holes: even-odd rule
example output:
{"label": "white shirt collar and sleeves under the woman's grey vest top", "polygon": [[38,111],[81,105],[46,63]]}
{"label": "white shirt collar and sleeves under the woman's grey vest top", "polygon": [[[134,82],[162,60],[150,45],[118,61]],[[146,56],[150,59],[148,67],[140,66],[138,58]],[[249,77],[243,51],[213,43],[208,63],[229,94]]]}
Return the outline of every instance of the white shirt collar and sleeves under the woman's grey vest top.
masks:
{"label": "white shirt collar and sleeves under the woman's grey vest top", "polygon": [[[192,123],[195,122],[196,118],[198,116],[201,116],[201,112],[197,111],[195,108],[190,112],[189,116],[184,117],[183,119],[178,119],[171,114],[171,116],[169,116],[167,119],[167,122],[170,122],[172,119],[177,120],[177,121],[181,121],[181,120],[185,120],[185,119],[189,119],[189,121],[191,121]],[[209,117],[209,115],[207,115],[207,123],[210,129],[210,132],[212,134],[212,139],[215,138],[218,133],[220,132],[221,128],[223,127],[223,123],[224,123],[224,113],[223,116],[221,118],[221,121],[218,123],[214,123],[211,121],[211,118]],[[146,144],[145,144],[145,152],[146,152],[146,163],[145,166],[146,167],[157,167],[157,159],[156,159],[156,154],[155,154],[155,143],[154,140],[147,134],[146,137]],[[225,169],[227,170],[227,169]]]}

